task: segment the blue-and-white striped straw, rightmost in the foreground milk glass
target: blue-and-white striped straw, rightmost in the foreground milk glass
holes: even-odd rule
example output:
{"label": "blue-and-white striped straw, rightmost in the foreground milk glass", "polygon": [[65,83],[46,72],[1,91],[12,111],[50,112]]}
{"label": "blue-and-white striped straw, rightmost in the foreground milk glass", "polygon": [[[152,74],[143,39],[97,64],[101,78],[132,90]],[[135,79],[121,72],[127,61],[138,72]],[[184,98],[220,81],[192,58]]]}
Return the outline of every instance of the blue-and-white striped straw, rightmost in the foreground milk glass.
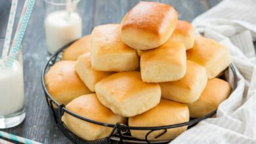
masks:
{"label": "blue-and-white striped straw, rightmost in the foreground milk glass", "polygon": [[[22,23],[20,25],[20,29],[17,31],[18,35],[17,37],[14,37],[14,46],[12,46],[10,50],[9,60],[7,61],[7,67],[12,67],[14,60],[18,54],[18,50],[20,49],[20,44],[22,42],[22,38],[24,36],[26,27],[28,25],[28,20],[30,20],[30,14],[33,9],[33,5],[35,4],[35,0],[29,0],[28,5],[26,7],[26,12],[24,16],[21,16]],[[24,4],[26,6],[26,3]]]}

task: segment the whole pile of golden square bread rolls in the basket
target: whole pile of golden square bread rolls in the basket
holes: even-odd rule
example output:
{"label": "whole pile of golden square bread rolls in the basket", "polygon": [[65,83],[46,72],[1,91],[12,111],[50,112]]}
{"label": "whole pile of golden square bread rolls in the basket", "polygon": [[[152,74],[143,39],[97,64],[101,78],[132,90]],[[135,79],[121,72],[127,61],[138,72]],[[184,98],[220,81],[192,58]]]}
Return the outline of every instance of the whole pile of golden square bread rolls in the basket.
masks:
{"label": "whole pile of golden square bread rolls in the basket", "polygon": [[[230,84],[217,78],[230,54],[177,18],[171,5],[139,2],[121,24],[96,26],[69,46],[45,76],[47,90],[77,115],[110,124],[165,126],[210,113],[230,95]],[[83,139],[112,130],[66,113],[62,120]],[[162,130],[155,131],[148,139],[174,139],[186,128],[158,138]],[[144,139],[147,132],[131,135]]]}

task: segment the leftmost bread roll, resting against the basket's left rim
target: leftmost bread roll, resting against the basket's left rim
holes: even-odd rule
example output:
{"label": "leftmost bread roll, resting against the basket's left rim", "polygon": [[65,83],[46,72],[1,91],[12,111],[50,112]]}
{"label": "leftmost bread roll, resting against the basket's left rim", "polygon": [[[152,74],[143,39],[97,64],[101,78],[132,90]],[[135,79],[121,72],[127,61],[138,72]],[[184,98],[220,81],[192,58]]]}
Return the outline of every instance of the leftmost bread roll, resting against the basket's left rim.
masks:
{"label": "leftmost bread roll, resting against the basket's left rim", "polygon": [[60,104],[68,104],[73,99],[91,91],[75,73],[74,61],[57,62],[45,75],[45,85],[49,94]]}

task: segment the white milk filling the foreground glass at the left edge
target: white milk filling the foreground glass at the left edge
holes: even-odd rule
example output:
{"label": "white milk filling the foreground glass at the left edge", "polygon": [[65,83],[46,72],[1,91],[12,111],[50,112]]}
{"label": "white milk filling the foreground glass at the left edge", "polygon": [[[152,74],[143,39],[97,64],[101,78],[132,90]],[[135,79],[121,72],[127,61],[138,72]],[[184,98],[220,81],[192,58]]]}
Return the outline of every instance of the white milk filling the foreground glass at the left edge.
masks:
{"label": "white milk filling the foreground glass at the left edge", "polygon": [[24,107],[22,65],[14,61],[12,68],[0,67],[0,116],[10,115]]}

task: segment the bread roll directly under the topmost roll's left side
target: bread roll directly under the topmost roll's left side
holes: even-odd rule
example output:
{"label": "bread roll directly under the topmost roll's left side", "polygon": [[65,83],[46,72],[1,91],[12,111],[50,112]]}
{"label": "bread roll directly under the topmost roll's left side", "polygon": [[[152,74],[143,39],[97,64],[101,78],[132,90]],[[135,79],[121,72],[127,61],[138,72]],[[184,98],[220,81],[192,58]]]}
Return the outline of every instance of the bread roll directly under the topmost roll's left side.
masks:
{"label": "bread roll directly under the topmost roll's left side", "polygon": [[133,71],[137,52],[121,41],[120,25],[96,26],[91,34],[91,63],[97,71]]}

